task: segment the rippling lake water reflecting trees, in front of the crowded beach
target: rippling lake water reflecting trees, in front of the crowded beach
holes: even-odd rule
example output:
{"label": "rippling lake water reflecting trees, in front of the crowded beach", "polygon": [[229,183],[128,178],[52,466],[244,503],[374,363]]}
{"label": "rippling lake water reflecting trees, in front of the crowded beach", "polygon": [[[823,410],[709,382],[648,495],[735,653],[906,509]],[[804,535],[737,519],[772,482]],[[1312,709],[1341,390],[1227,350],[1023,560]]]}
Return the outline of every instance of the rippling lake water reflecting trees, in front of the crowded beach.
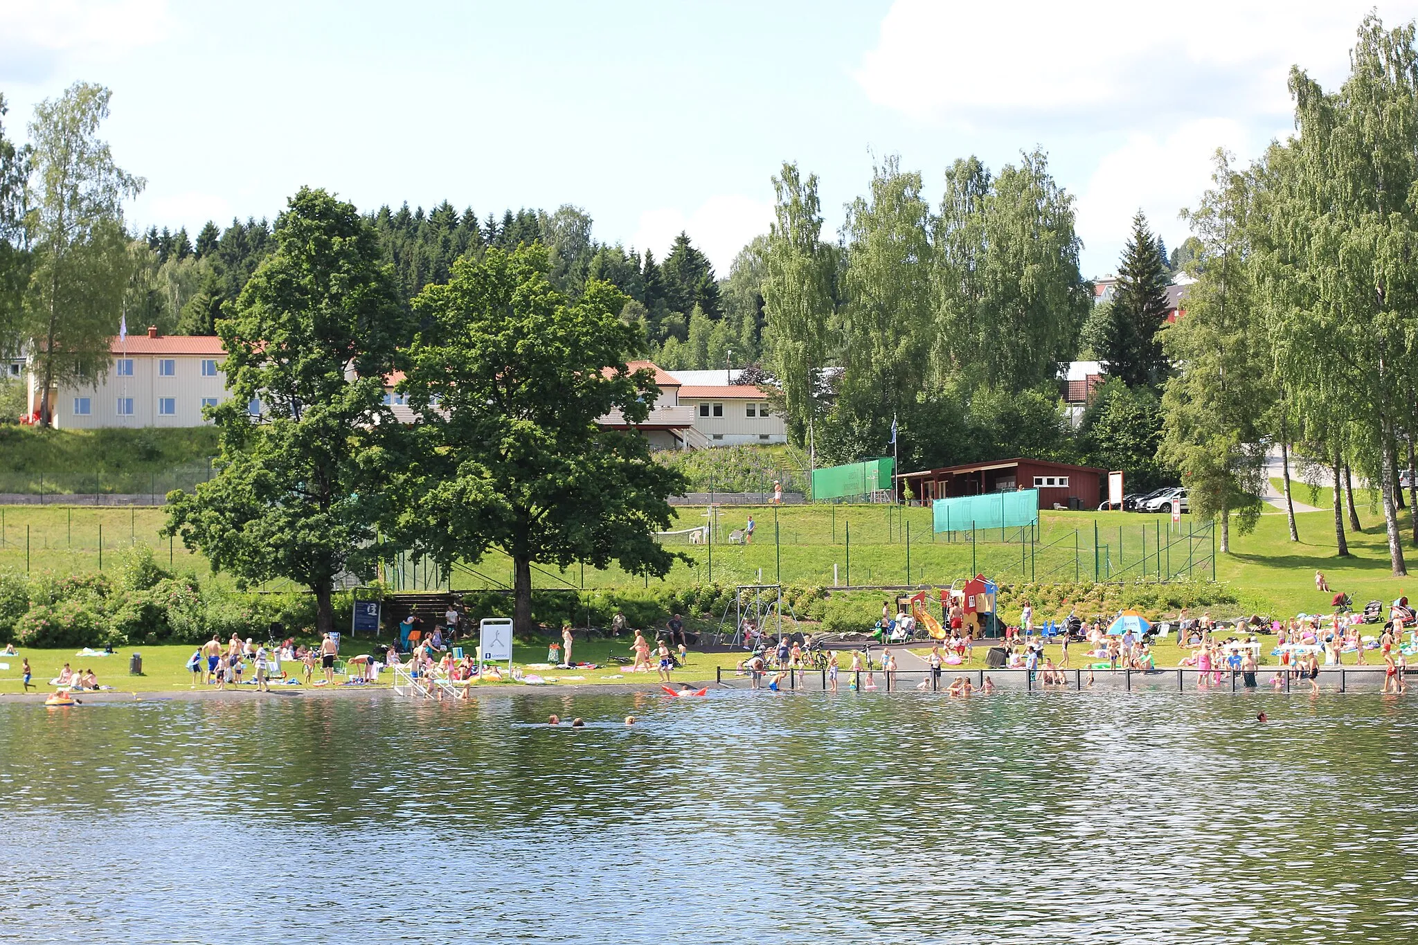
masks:
{"label": "rippling lake water reflecting trees, in front of the crowded beach", "polygon": [[1415,737],[1356,693],[11,703],[0,939],[1409,942]]}

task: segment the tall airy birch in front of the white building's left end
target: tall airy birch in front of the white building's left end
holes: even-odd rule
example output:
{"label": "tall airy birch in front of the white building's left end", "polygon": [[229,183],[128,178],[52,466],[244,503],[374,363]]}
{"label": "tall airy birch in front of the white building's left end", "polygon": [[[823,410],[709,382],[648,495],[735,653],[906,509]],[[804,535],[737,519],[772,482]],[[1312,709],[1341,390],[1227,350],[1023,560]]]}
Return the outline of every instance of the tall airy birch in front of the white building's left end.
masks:
{"label": "tall airy birch in front of the white building's left end", "polygon": [[119,169],[98,137],[108,101],[106,88],[75,82],[35,106],[30,123],[35,196],[26,334],[34,340],[44,425],[57,384],[92,381],[108,368],[130,271],[123,201],[143,180]]}

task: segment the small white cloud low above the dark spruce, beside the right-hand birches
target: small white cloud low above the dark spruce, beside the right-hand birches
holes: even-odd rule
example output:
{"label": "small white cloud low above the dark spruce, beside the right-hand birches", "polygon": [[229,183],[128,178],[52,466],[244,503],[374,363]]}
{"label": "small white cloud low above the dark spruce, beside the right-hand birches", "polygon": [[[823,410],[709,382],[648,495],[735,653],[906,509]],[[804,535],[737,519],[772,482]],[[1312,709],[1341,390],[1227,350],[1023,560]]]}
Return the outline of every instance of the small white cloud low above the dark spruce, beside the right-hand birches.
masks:
{"label": "small white cloud low above the dark spruce, beside the right-hand birches", "polygon": [[1211,186],[1211,157],[1217,147],[1244,160],[1258,145],[1235,120],[1200,119],[1161,137],[1130,135],[1122,147],[1103,154],[1078,198],[1076,230],[1089,258],[1107,254],[1102,258],[1116,259],[1139,208],[1168,247],[1178,245],[1188,228],[1177,214],[1183,207],[1195,207]]}

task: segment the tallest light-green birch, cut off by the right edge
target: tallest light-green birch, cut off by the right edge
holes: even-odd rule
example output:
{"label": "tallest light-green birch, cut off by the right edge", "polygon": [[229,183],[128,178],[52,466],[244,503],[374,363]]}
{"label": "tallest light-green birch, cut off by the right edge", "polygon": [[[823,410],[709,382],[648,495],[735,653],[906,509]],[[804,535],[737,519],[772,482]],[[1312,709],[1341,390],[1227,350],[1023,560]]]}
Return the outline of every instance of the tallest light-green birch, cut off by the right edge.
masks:
{"label": "tallest light-green birch, cut off by the right edge", "polygon": [[1309,426],[1327,431],[1324,453],[1344,458],[1349,446],[1357,468],[1381,483],[1390,564],[1407,574],[1394,470],[1401,425],[1414,414],[1407,380],[1418,312],[1414,26],[1385,30],[1377,16],[1366,17],[1350,62],[1337,92],[1299,68],[1290,72],[1299,135],[1272,149],[1266,283],[1279,317],[1269,341],[1282,353],[1282,377],[1302,414],[1323,421]]}

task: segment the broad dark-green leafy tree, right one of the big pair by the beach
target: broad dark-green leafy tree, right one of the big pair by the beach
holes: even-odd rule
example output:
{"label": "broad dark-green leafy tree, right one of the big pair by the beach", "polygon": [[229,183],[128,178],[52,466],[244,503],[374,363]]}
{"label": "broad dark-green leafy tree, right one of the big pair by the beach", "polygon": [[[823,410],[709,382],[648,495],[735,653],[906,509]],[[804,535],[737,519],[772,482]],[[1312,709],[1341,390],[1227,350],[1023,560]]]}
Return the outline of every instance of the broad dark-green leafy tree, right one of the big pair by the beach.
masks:
{"label": "broad dark-green leafy tree, right one of the big pair by the beach", "polygon": [[685,489],[641,434],[597,424],[613,411],[642,422],[658,394],[648,370],[625,367],[640,344],[618,317],[625,296],[588,282],[569,302],[549,268],[540,245],[459,261],[415,300],[404,383],[425,459],[401,528],[444,564],[505,551],[519,633],[532,629],[536,561],[664,575],[674,555],[654,533]]}

